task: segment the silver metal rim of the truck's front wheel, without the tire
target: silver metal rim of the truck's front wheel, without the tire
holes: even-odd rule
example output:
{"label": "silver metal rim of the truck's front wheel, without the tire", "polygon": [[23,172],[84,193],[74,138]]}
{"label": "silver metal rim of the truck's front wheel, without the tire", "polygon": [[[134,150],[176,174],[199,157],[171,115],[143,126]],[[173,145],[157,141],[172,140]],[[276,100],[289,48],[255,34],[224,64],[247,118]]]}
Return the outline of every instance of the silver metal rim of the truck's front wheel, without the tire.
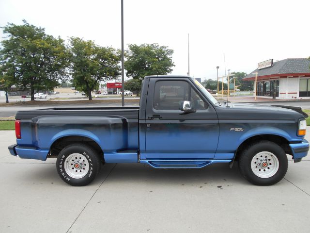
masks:
{"label": "silver metal rim of the truck's front wheel, without the tire", "polygon": [[261,178],[274,176],[279,170],[279,160],[269,151],[262,151],[254,155],[251,161],[253,173]]}

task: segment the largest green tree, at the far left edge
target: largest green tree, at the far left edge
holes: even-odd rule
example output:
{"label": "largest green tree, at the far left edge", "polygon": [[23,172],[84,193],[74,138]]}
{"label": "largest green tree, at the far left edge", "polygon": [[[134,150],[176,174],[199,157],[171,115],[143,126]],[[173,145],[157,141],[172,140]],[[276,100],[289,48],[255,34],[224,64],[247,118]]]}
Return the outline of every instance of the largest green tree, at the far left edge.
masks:
{"label": "largest green tree, at the far left edge", "polygon": [[66,76],[68,53],[63,40],[45,33],[23,20],[23,25],[8,23],[3,27],[7,39],[1,42],[0,62],[16,86],[35,90],[52,90]]}

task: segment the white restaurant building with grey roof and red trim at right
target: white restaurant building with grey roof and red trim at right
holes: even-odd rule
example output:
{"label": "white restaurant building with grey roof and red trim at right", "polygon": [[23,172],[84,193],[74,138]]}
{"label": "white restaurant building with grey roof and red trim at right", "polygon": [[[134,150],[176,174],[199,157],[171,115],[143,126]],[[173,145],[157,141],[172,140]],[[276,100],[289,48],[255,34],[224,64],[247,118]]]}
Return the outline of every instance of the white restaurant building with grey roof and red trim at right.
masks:
{"label": "white restaurant building with grey roof and red trim at right", "polygon": [[288,58],[273,59],[258,64],[258,68],[243,78],[255,82],[257,96],[276,99],[310,99],[310,60]]}

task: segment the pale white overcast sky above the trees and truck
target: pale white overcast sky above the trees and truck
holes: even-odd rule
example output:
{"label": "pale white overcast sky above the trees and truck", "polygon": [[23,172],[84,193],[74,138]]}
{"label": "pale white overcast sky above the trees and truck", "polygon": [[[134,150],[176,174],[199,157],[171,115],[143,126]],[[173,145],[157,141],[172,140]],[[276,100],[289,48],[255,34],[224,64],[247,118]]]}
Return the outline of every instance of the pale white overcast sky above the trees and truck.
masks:
{"label": "pale white overcast sky above the trees and truck", "polygon": [[[271,58],[309,57],[309,11],[309,0],[124,0],[124,47],[168,46],[171,74],[186,75],[189,33],[190,76],[216,80],[217,66],[222,77]],[[121,49],[121,0],[0,0],[0,26],[22,19],[64,40]]]}

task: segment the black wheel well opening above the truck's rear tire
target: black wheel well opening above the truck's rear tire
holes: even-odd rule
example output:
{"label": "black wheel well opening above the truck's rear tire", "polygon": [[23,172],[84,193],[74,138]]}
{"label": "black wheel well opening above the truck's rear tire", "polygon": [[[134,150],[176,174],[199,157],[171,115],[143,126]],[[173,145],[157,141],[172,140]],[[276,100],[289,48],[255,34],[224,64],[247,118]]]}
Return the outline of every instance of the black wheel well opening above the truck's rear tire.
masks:
{"label": "black wheel well opening above the truck's rear tire", "polygon": [[66,146],[72,144],[72,143],[84,143],[92,147],[94,150],[98,152],[102,160],[103,158],[103,150],[99,146],[99,144],[94,141],[93,139],[85,136],[63,136],[55,140],[52,145],[50,146],[49,153],[47,155],[47,158],[56,158],[59,154],[59,152],[65,148]]}

